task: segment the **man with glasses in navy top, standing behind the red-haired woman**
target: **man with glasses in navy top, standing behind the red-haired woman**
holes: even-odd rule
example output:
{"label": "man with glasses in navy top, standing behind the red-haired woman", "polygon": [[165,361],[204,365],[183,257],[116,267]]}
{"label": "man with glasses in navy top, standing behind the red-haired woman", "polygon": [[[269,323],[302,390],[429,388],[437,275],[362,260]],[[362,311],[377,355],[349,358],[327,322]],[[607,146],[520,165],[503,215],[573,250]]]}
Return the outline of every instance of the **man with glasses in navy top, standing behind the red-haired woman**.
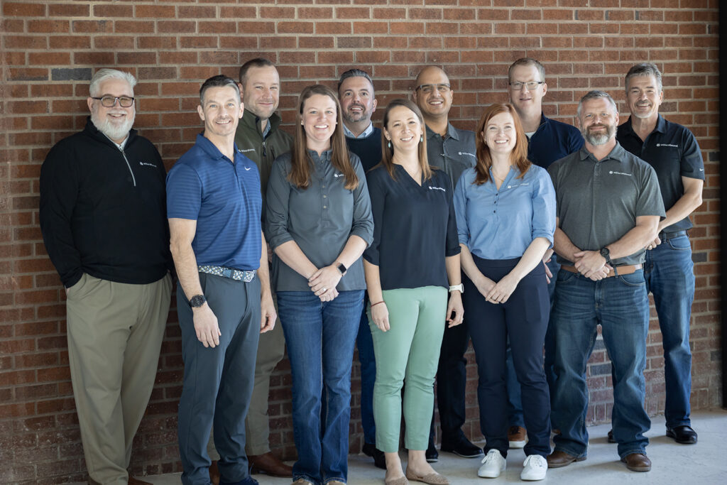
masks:
{"label": "man with glasses in navy top, standing behind the red-haired woman", "polygon": [[[507,71],[507,93],[510,103],[520,116],[523,130],[528,137],[528,159],[539,167],[547,169],[554,161],[560,160],[583,147],[583,137],[573,125],[546,118],[542,111],[542,100],[547,93],[545,68],[532,57],[521,57],[510,65]],[[558,274],[561,265],[556,261],[553,250],[545,253],[545,261],[551,275]],[[553,304],[555,277],[550,278],[548,293]],[[545,334],[545,377],[553,394],[553,359],[555,358],[555,337],[553,331]],[[510,351],[507,352],[507,400],[510,428],[507,439],[510,448],[522,448],[526,443],[526,429],[523,420],[520,383],[515,377],[515,367]]]}

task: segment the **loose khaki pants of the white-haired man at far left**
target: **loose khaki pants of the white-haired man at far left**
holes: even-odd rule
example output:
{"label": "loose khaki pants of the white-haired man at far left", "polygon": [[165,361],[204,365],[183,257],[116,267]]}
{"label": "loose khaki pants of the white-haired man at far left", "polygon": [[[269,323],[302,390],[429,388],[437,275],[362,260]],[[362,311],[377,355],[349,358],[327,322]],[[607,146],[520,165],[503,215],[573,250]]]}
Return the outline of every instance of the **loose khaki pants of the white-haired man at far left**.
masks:
{"label": "loose khaki pants of the white-haired man at far left", "polygon": [[68,360],[92,481],[124,484],[156,377],[172,293],[167,275],[123,284],[84,273],[68,289]]}

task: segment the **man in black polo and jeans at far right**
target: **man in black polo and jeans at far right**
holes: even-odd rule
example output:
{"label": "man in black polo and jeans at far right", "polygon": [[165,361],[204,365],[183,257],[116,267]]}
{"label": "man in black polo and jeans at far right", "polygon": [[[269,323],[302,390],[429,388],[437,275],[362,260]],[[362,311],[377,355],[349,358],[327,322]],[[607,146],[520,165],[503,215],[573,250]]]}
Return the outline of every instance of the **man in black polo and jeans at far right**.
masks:
{"label": "man in black polo and jeans at far right", "polygon": [[659,115],[664,100],[662,73],[654,64],[637,64],[626,74],[629,119],[616,140],[656,170],[667,217],[659,236],[646,249],[644,277],[654,294],[664,346],[667,436],[677,443],[696,443],[689,420],[691,350],[689,319],[694,300],[694,263],[688,229],[689,215],[702,204],[704,162],[694,135]]}

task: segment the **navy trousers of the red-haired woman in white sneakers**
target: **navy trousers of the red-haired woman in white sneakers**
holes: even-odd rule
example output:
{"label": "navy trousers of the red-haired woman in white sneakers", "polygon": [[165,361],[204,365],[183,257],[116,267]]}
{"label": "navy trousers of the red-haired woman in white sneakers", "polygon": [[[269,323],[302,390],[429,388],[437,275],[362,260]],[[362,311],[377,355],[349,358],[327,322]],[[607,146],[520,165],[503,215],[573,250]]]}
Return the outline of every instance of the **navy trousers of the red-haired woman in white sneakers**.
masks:
{"label": "navy trousers of the red-haired woman in white sneakers", "polygon": [[[515,268],[518,259],[483,260],[473,254],[483,275],[499,281]],[[515,374],[523,396],[523,418],[528,430],[525,454],[550,453],[550,394],[543,372],[543,341],[550,298],[545,269],[537,265],[518,284],[507,302],[487,302],[470,278],[463,277],[465,324],[475,348],[479,382],[480,428],[487,440],[485,453],[497,449],[507,456],[506,349],[510,336]]]}

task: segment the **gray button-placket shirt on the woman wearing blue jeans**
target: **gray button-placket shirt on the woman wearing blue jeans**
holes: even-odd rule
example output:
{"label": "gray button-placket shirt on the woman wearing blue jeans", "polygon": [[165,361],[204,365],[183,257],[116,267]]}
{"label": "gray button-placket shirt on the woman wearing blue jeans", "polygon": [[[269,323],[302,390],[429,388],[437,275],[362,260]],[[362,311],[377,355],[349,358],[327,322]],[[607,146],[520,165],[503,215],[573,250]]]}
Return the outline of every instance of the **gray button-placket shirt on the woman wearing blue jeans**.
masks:
{"label": "gray button-placket shirt on the woman wearing blue jeans", "polygon": [[[318,156],[309,150],[308,154],[313,160],[308,188],[297,188],[288,180],[291,153],[278,156],[273,164],[265,208],[265,238],[273,249],[295,241],[310,262],[322,268],[336,260],[350,236],[371,244],[374,219],[366,175],[358,156],[349,153],[358,177],[358,186],[349,191],[344,188],[345,176],[331,164],[331,151]],[[275,254],[271,279],[276,292],[310,291],[308,280]],[[348,268],[336,289],[366,289],[361,258]]]}

